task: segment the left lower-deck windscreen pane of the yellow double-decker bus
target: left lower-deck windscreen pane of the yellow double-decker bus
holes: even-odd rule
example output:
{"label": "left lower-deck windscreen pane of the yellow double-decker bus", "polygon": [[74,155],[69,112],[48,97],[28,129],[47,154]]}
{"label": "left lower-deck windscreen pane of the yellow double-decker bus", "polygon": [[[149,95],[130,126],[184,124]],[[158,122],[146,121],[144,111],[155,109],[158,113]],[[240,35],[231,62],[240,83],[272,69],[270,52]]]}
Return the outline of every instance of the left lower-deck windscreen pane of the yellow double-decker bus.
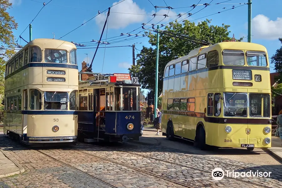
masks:
{"label": "left lower-deck windscreen pane of the yellow double-decker bus", "polygon": [[223,93],[223,96],[224,116],[247,117],[247,94]]}

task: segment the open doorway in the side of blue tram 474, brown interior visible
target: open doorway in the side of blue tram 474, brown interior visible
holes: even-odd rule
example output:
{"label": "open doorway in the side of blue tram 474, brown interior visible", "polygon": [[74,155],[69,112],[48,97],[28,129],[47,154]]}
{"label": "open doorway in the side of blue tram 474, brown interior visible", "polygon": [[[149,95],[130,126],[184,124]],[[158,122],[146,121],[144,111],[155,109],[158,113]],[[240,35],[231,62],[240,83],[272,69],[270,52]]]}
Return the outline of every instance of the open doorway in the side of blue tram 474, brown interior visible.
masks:
{"label": "open doorway in the side of blue tram 474, brown interior visible", "polygon": [[105,129],[105,111],[106,111],[106,92],[105,88],[95,89],[95,119],[96,119],[96,130]]}

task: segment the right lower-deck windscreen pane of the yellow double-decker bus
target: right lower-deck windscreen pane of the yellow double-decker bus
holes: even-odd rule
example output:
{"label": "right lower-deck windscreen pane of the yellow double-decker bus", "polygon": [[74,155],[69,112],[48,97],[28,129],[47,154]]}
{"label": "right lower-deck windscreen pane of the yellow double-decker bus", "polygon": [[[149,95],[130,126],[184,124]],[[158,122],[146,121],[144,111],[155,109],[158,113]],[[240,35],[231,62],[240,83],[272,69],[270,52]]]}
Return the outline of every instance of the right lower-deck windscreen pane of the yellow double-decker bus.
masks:
{"label": "right lower-deck windscreen pane of the yellow double-decker bus", "polygon": [[270,117],[269,94],[249,94],[250,117]]}

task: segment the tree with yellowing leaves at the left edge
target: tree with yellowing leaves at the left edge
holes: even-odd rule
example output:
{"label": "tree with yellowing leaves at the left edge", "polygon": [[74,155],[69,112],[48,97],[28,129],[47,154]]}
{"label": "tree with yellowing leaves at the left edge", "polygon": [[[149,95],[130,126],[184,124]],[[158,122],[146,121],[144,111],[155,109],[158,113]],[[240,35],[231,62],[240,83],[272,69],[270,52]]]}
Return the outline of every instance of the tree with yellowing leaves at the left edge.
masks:
{"label": "tree with yellowing leaves at the left edge", "polygon": [[[0,0],[0,94],[4,94],[4,77],[6,61],[15,54],[15,37],[13,29],[18,28],[13,16],[10,16],[7,9],[12,7],[8,0]],[[8,49],[8,50],[6,50]]]}

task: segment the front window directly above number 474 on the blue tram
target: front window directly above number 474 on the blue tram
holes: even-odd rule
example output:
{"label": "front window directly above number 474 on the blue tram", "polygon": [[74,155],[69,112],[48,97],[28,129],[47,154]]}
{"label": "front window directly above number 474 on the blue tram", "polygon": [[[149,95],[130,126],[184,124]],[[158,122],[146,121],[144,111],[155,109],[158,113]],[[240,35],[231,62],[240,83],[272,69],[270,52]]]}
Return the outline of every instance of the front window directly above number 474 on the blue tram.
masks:
{"label": "front window directly above number 474 on the blue tram", "polygon": [[136,111],[136,87],[123,87],[123,111]]}

